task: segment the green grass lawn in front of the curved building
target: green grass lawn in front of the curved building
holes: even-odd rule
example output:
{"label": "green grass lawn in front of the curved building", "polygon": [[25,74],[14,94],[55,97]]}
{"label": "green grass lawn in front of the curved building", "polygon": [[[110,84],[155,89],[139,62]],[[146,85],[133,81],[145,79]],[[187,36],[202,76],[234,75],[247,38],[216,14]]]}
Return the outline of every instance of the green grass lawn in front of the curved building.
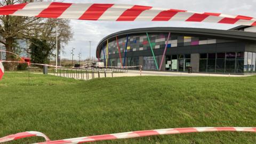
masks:
{"label": "green grass lawn in front of the curved building", "polygon": [[[174,127],[256,126],[256,76],[118,77],[92,81],[6,73],[0,137],[43,132],[52,140]],[[10,143],[33,143],[41,138]],[[255,143],[255,133],[208,132],[97,143]]]}

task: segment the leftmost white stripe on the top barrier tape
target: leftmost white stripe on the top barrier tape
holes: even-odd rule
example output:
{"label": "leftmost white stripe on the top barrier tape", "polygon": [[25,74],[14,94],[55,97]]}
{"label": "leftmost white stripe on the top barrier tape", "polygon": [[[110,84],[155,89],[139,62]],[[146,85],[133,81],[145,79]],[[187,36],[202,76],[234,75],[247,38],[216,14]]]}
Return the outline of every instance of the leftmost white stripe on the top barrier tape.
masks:
{"label": "leftmost white stripe on the top barrier tape", "polygon": [[11,15],[26,15],[28,17],[35,17],[41,13],[44,9],[49,7],[51,2],[38,2],[38,3],[28,3],[23,9],[16,11]]}

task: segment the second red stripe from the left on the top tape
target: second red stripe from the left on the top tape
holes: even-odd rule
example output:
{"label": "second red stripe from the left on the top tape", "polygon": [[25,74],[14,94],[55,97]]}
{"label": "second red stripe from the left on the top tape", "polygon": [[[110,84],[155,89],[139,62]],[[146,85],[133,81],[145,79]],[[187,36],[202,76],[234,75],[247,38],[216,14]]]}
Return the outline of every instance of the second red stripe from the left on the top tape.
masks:
{"label": "second red stripe from the left on the top tape", "polygon": [[39,13],[36,17],[42,18],[58,18],[60,15],[65,12],[71,3],[58,3],[52,2],[46,9]]}

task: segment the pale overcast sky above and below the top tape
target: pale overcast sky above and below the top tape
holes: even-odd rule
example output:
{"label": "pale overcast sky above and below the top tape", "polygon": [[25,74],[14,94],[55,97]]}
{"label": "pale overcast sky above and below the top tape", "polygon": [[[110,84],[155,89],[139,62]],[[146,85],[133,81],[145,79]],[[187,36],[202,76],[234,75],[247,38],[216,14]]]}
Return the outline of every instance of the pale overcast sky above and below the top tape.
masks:
{"label": "pale overcast sky above and below the top tape", "polygon": [[[58,0],[57,0],[58,1]],[[63,1],[63,0],[62,0]],[[112,4],[137,4],[153,7],[162,7],[167,9],[180,9],[196,12],[216,12],[225,14],[240,14],[250,17],[256,17],[256,0],[64,0],[67,3],[112,3]],[[90,43],[91,57],[96,57],[95,51],[99,41],[117,31],[145,28],[145,27],[193,27],[193,28],[212,28],[229,29],[236,25],[226,25],[218,23],[202,22],[116,22],[116,21],[84,21],[71,20],[70,25],[73,28],[73,39],[65,45],[62,58],[71,59],[71,49],[75,47],[74,59],[78,59],[78,53],[82,53],[82,59],[89,58]]]}

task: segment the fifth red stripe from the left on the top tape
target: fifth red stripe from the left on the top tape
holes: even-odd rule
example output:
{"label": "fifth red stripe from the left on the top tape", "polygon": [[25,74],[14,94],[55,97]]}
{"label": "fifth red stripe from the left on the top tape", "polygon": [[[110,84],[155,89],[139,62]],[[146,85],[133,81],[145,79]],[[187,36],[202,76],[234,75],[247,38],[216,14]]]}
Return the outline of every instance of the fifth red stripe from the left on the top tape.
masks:
{"label": "fifth red stripe from the left on the top tape", "polygon": [[167,10],[162,11],[159,14],[156,15],[156,17],[152,21],[169,21],[175,14],[178,12],[186,12],[183,10]]}

